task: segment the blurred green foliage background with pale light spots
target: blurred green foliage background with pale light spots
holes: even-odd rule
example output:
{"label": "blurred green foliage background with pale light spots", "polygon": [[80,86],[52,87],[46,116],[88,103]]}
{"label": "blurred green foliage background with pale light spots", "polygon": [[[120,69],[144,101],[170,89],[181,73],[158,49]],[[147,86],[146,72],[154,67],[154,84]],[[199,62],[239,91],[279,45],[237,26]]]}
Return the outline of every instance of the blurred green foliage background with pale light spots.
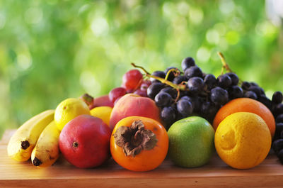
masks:
{"label": "blurred green foliage background with pale light spots", "polygon": [[2,0],[0,137],[68,97],[108,94],[130,62],[153,72],[192,56],[217,76],[221,51],[271,96],[283,90],[275,1]]}

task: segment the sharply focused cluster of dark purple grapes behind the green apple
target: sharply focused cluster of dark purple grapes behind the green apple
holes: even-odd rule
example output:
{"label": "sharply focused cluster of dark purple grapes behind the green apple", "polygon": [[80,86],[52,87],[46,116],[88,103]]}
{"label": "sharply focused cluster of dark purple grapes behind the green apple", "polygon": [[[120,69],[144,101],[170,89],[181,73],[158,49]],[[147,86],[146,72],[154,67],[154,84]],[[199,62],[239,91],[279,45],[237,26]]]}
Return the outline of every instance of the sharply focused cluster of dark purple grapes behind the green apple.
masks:
{"label": "sharply focused cluster of dark purple grapes behind the green apple", "polygon": [[161,118],[166,128],[192,115],[212,122],[221,106],[231,99],[244,96],[243,89],[238,86],[238,76],[233,72],[216,78],[213,74],[202,72],[192,57],[185,58],[181,66],[183,72],[176,67],[168,67],[165,71],[151,74],[172,82],[173,87],[151,78],[152,84],[147,89],[147,95],[161,108]]}

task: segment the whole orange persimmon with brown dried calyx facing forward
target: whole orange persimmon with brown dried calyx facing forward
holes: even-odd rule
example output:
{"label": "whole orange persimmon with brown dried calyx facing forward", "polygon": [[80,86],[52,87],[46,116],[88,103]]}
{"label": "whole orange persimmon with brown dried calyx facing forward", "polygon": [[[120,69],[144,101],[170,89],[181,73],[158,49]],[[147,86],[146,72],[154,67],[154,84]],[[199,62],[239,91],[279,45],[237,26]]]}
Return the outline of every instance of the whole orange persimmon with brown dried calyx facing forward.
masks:
{"label": "whole orange persimmon with brown dried calyx facing forward", "polygon": [[129,116],[112,131],[110,151],[119,165],[132,171],[154,170],[168,152],[168,135],[161,123],[152,118]]}

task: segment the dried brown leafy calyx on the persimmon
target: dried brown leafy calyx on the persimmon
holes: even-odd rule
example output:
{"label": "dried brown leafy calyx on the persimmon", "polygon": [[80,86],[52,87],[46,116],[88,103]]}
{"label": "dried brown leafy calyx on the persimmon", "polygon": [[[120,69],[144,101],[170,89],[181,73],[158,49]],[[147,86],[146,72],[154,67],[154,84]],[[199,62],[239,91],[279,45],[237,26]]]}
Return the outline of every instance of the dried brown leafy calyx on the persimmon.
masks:
{"label": "dried brown leafy calyx on the persimmon", "polygon": [[126,156],[135,157],[141,150],[151,150],[156,146],[156,135],[144,128],[144,123],[137,120],[132,123],[132,126],[120,126],[114,133],[115,143],[123,148]]}

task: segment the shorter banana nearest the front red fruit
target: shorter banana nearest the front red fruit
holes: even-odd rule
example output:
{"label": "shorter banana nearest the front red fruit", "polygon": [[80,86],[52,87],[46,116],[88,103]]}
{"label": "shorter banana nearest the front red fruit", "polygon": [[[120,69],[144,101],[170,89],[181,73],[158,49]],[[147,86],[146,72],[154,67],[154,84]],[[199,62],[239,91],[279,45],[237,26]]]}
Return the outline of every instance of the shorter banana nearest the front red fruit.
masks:
{"label": "shorter banana nearest the front red fruit", "polygon": [[31,153],[31,162],[37,167],[49,167],[59,157],[60,131],[52,121],[40,134]]}

